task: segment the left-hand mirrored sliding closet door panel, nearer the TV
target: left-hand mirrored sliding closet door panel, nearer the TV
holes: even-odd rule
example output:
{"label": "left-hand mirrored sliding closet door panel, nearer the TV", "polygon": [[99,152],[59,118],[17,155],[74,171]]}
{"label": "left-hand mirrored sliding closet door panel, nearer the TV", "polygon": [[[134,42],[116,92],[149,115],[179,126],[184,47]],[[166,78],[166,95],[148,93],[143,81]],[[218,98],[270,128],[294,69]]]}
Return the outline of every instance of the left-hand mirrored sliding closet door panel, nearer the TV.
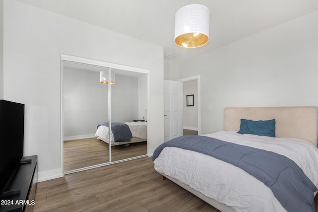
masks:
{"label": "left-hand mirrored sliding closet door panel, nearer the TV", "polygon": [[109,68],[70,61],[62,67],[64,172],[107,163],[109,89],[100,71]]}

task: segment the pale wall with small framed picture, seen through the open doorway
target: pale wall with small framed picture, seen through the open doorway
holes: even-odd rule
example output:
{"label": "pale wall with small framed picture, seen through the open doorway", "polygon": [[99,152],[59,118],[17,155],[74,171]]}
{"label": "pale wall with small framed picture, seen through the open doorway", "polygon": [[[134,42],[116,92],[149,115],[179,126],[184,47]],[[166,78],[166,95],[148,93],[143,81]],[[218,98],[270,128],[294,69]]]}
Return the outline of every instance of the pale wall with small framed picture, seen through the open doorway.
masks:
{"label": "pale wall with small framed picture, seen through the open doorway", "polygon": [[[183,129],[198,130],[198,81],[183,82]],[[187,95],[194,94],[194,106],[187,106]]]}

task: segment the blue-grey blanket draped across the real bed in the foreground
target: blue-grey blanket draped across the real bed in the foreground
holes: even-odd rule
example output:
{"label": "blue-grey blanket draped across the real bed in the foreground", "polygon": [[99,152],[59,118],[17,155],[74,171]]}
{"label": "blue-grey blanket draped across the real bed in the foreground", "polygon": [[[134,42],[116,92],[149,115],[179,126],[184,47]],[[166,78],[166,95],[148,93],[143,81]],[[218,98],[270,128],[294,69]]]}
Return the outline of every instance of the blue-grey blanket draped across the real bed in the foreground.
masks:
{"label": "blue-grey blanket draped across the real bed in the foreground", "polygon": [[183,136],[158,146],[153,160],[167,146],[207,154],[243,169],[268,186],[288,212],[315,212],[314,192],[317,188],[288,157],[205,136]]}

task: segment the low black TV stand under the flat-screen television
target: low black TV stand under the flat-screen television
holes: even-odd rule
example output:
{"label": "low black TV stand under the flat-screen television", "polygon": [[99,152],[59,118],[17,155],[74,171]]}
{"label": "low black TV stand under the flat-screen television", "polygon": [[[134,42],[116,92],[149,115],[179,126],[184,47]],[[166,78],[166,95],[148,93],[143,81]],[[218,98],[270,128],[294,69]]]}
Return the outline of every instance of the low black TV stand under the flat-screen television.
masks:
{"label": "low black TV stand under the flat-screen television", "polygon": [[37,181],[37,155],[22,157],[1,194],[0,212],[31,212]]}

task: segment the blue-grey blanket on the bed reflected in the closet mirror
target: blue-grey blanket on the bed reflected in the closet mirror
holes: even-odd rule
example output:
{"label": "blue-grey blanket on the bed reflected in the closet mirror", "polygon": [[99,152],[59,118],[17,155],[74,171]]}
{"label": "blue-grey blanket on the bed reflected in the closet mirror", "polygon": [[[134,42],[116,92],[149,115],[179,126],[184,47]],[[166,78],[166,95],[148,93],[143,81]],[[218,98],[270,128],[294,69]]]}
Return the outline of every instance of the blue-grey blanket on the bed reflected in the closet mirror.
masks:
{"label": "blue-grey blanket on the bed reflected in the closet mirror", "polygon": [[[108,127],[108,122],[98,124],[97,128],[101,125]],[[115,142],[121,142],[121,141],[129,141],[130,142],[130,139],[133,138],[128,125],[126,125],[122,122],[112,122],[111,123],[111,132],[113,133]]]}

